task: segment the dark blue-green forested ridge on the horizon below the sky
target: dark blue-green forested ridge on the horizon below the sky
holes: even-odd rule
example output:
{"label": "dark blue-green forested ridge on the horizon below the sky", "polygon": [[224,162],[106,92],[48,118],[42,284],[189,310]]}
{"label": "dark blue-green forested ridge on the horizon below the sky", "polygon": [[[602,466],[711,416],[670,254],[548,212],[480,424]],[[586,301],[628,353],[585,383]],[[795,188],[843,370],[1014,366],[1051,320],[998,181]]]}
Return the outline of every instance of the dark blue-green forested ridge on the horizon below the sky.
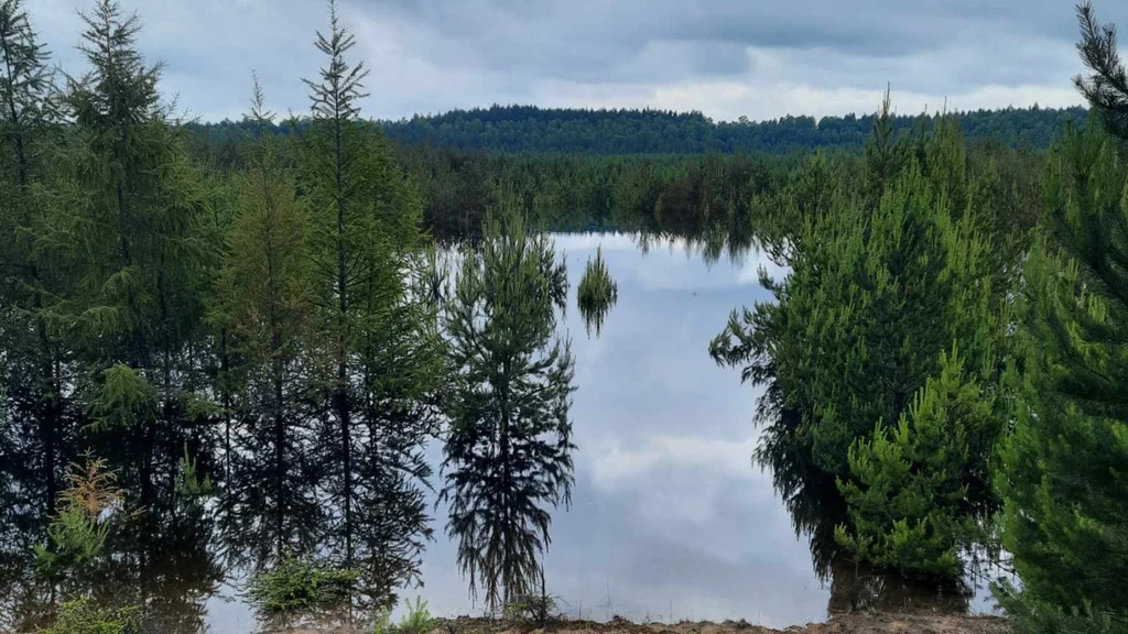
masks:
{"label": "dark blue-green forested ridge on the horizon below the sky", "polygon": [[[895,134],[914,126],[931,129],[940,114],[897,115]],[[1046,149],[1067,120],[1083,121],[1086,109],[1006,108],[948,113],[968,141],[997,139],[1012,147]],[[817,148],[861,149],[873,130],[873,114],[786,116],[761,122],[714,122],[699,112],[656,109],[572,109],[536,106],[492,106],[380,121],[394,142],[493,153],[785,155]],[[293,122],[290,123],[291,125]],[[222,144],[232,127],[245,123],[194,124],[213,143]],[[284,126],[283,126],[284,127]]]}

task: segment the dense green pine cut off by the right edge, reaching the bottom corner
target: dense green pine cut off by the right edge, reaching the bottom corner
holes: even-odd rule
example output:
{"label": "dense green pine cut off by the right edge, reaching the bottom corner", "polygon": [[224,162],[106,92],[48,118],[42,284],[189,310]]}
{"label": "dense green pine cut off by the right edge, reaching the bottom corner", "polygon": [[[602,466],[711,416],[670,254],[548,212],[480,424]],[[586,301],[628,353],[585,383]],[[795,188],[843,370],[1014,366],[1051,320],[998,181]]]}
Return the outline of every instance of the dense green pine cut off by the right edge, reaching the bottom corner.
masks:
{"label": "dense green pine cut off by the right edge, reaching the bottom corner", "polygon": [[1067,130],[1046,177],[1047,236],[1023,267],[1014,432],[998,463],[1022,632],[1125,632],[1128,600],[1128,204],[1099,131]]}

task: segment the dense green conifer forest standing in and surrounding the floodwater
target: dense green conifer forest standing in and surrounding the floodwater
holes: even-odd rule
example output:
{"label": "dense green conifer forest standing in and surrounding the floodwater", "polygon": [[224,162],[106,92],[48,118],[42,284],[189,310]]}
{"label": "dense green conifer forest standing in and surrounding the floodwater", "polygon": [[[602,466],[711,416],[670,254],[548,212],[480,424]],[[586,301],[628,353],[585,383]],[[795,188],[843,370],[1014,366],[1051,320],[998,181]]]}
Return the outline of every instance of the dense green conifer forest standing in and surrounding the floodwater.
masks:
{"label": "dense green conifer forest standing in and surrounding the floodwater", "polygon": [[[0,0],[0,631],[201,632],[237,587],[264,628],[423,634],[439,539],[556,618],[588,448],[554,237],[614,234],[784,271],[699,354],[760,390],[831,614],[981,583],[1015,632],[1128,632],[1128,71],[1091,5],[1089,108],[760,123],[379,121],[333,2],[305,114],[248,69],[241,121],[182,121],[144,16],[83,9],[61,70]],[[592,255],[598,340],[631,300]]]}

